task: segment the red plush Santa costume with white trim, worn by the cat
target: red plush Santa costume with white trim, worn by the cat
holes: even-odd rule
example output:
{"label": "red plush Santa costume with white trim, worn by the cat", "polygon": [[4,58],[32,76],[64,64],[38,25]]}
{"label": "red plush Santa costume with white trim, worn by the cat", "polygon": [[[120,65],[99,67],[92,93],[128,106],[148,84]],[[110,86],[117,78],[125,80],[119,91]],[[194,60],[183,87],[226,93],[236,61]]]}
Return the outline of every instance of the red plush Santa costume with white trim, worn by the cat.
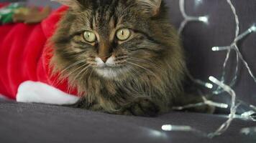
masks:
{"label": "red plush Santa costume with white trim, worn by the cat", "polygon": [[[0,5],[1,7],[1,5]],[[0,26],[0,94],[18,102],[73,104],[76,89],[58,83],[49,67],[52,47],[47,43],[68,8],[53,11],[40,24]]]}

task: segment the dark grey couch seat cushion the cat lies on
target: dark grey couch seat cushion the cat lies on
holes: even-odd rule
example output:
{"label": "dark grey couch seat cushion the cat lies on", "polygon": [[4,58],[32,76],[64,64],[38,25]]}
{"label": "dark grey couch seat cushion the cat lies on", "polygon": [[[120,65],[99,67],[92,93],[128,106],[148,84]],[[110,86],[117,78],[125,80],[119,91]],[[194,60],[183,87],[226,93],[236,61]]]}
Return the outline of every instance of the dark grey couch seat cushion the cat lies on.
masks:
{"label": "dark grey couch seat cushion the cat lies on", "polygon": [[156,118],[127,117],[84,109],[0,100],[0,142],[255,142],[239,134],[254,122],[235,120],[223,136],[206,139],[189,132],[163,132],[163,124],[214,131],[225,117],[170,112]]}

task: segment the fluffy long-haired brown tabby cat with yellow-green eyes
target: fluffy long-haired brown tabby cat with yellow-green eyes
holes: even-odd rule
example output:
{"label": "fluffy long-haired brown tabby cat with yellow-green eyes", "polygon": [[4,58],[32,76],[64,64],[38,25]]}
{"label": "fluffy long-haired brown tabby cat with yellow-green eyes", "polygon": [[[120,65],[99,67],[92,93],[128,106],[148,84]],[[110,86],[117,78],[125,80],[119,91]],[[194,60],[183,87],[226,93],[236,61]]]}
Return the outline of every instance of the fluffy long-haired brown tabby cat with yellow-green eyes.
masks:
{"label": "fluffy long-haired brown tabby cat with yellow-green eyes", "polygon": [[152,117],[188,98],[186,58],[164,1],[55,1],[70,9],[52,36],[50,63],[78,89],[78,107]]}

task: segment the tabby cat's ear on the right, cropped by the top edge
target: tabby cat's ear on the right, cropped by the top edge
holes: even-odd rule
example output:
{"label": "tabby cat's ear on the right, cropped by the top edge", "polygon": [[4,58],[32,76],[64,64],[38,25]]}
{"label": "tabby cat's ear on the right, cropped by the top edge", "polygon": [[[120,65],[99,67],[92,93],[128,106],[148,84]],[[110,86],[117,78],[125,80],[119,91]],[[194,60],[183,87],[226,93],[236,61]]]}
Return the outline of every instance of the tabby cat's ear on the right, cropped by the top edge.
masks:
{"label": "tabby cat's ear on the right, cropped by the top edge", "polygon": [[162,0],[136,0],[139,6],[142,6],[142,12],[157,16],[160,13]]}

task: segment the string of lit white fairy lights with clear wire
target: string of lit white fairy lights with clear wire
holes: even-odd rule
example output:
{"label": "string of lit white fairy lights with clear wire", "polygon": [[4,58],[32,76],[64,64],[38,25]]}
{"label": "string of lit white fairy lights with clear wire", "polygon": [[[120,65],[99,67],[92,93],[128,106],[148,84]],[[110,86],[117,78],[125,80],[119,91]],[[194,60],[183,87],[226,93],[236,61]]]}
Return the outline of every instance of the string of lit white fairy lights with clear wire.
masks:
{"label": "string of lit white fairy lights with clear wire", "polygon": [[[195,0],[195,1],[196,1],[196,5],[202,3],[202,0]],[[230,9],[232,10],[232,13],[234,14],[234,19],[235,19],[235,24],[236,24],[236,31],[235,31],[234,41],[232,41],[232,44],[230,44],[229,46],[213,46],[211,48],[211,50],[214,51],[214,52],[224,51],[224,50],[227,51],[227,55],[226,55],[226,58],[225,58],[224,63],[223,63],[223,71],[221,73],[220,81],[218,79],[216,79],[215,77],[209,77],[209,80],[211,82],[213,82],[214,84],[216,84],[217,88],[213,89],[214,88],[213,84],[211,84],[209,82],[204,82],[201,79],[195,79],[190,74],[188,76],[196,84],[199,84],[203,87],[211,89],[213,95],[219,95],[223,92],[227,92],[232,97],[231,98],[231,104],[230,104],[230,113],[229,113],[228,119],[227,119],[226,122],[221,124],[221,126],[218,129],[216,129],[216,131],[209,132],[209,133],[202,132],[201,130],[198,130],[198,129],[190,127],[190,126],[180,126],[180,125],[173,125],[173,124],[163,125],[162,129],[164,131],[193,132],[193,133],[199,134],[199,135],[204,136],[204,137],[212,138],[212,137],[216,137],[216,136],[219,136],[219,135],[223,134],[229,128],[230,124],[232,124],[232,121],[235,118],[250,120],[250,121],[256,122],[256,119],[255,119],[256,107],[253,106],[253,105],[249,105],[251,110],[249,110],[247,112],[244,112],[242,114],[236,114],[237,113],[237,107],[239,107],[240,104],[242,104],[242,101],[237,102],[236,93],[232,89],[232,87],[234,87],[234,84],[237,83],[237,77],[239,76],[238,75],[239,62],[242,62],[242,64],[244,64],[244,66],[246,67],[247,71],[250,74],[250,77],[252,77],[252,79],[256,83],[255,75],[253,74],[252,70],[250,69],[249,64],[247,63],[247,61],[245,61],[244,57],[242,56],[242,53],[239,50],[239,47],[237,46],[237,43],[239,41],[244,39],[249,34],[252,34],[253,32],[256,32],[256,25],[250,26],[249,29],[247,29],[246,31],[242,32],[242,34],[240,34],[239,17],[237,15],[237,11],[236,11],[234,5],[232,4],[231,0],[226,0],[226,1],[227,1],[227,4],[229,4]],[[181,22],[180,28],[178,29],[179,34],[182,34],[183,29],[185,28],[185,26],[191,21],[197,21],[197,22],[203,22],[204,24],[209,24],[209,16],[189,16],[188,14],[186,14],[185,1],[184,0],[179,0],[179,6],[180,6],[180,12],[183,16],[183,21]],[[236,54],[236,68],[235,68],[235,71],[234,71],[234,77],[232,77],[231,82],[227,82],[226,69],[227,69],[227,63],[230,60],[230,56],[232,54],[231,51],[235,51],[235,54]],[[183,106],[183,107],[174,107],[173,109],[181,110],[181,109],[188,109],[188,108],[192,108],[192,107],[199,107],[199,106],[203,106],[203,105],[210,105],[210,106],[219,107],[219,108],[228,108],[229,107],[229,104],[216,103],[216,102],[213,102],[213,101],[209,101],[204,96],[202,96],[202,98],[204,99],[203,100],[204,102],[200,102],[200,103],[197,103],[197,104],[188,104],[188,105]],[[240,133],[241,134],[255,134],[256,133],[256,127],[243,128],[243,129],[241,129]]]}

